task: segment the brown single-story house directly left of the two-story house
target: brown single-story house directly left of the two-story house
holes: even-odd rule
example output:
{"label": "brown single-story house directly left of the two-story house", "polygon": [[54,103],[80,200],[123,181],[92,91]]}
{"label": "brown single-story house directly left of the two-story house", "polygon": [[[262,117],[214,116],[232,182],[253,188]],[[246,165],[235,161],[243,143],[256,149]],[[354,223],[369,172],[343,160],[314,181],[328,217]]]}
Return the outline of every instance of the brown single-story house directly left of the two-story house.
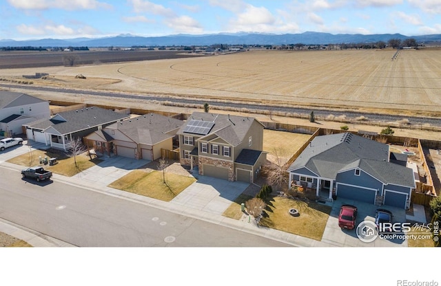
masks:
{"label": "brown single-story house directly left of the two-story house", "polygon": [[135,159],[161,158],[161,149],[172,150],[182,120],[157,113],[123,120],[94,131],[86,139],[96,152]]}

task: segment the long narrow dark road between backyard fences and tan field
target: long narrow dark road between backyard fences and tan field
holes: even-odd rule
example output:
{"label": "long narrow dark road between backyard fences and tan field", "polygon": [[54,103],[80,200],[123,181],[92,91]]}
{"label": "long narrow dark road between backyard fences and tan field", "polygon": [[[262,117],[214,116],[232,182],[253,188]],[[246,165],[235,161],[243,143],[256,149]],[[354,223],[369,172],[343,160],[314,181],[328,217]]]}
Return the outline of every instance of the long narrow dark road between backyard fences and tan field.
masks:
{"label": "long narrow dark road between backyard fences and tan field", "polygon": [[83,94],[88,96],[101,96],[115,98],[115,100],[124,100],[125,98],[136,99],[136,100],[154,100],[156,102],[176,102],[180,104],[204,104],[209,103],[212,107],[241,107],[243,109],[257,110],[257,111],[274,111],[280,113],[293,113],[298,115],[309,115],[311,111],[314,111],[316,116],[326,117],[330,113],[338,117],[340,115],[345,115],[347,120],[356,120],[360,115],[367,115],[370,121],[373,122],[394,122],[397,120],[402,120],[407,118],[409,122],[413,125],[424,125],[430,124],[430,126],[441,126],[441,120],[439,118],[427,118],[427,117],[417,117],[409,115],[388,115],[380,113],[360,113],[355,111],[338,111],[338,110],[322,110],[322,109],[309,109],[302,107],[278,107],[278,106],[265,106],[261,104],[252,104],[245,102],[218,102],[216,100],[209,99],[193,99],[185,97],[172,97],[172,96],[154,96],[152,94],[123,94],[120,92],[110,92],[110,91],[90,91],[90,90],[79,90],[79,89],[68,89],[68,88],[58,88],[58,87],[36,87],[32,85],[9,85],[0,83],[0,87],[13,88],[13,89],[27,89],[33,91],[48,91],[48,92],[59,92],[65,94]]}

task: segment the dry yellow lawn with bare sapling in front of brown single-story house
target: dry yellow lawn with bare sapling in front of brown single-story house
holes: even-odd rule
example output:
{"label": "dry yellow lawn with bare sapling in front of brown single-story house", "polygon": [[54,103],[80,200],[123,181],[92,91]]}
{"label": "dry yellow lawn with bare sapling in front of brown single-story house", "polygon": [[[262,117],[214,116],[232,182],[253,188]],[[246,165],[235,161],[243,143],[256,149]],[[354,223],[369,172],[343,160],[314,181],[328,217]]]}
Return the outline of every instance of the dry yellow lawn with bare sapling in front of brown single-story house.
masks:
{"label": "dry yellow lawn with bare sapling in front of brown single-story house", "polygon": [[147,173],[144,170],[133,170],[109,186],[161,201],[171,201],[194,181],[194,177],[165,173],[164,183],[162,171]]}

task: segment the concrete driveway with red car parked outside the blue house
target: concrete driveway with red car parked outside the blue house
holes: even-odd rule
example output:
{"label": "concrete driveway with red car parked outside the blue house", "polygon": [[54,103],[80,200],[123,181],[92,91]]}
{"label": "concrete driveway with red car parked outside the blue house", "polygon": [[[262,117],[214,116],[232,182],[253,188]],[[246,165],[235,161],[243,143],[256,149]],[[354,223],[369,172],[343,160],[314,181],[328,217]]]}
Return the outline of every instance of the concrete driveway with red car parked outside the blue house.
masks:
{"label": "concrete driveway with red car parked outside the blue house", "polygon": [[326,224],[325,232],[323,232],[322,242],[331,245],[343,247],[407,247],[407,241],[401,239],[380,239],[379,237],[371,243],[365,243],[358,239],[356,229],[346,230],[338,226],[338,214],[340,214],[340,207],[343,204],[350,204],[358,208],[356,225],[362,221],[375,221],[375,211],[377,208],[390,210],[393,213],[393,222],[405,222],[406,211],[400,208],[393,208],[391,206],[374,206],[371,203],[363,203],[361,201],[354,201],[351,199],[340,199],[334,201],[331,214]]}

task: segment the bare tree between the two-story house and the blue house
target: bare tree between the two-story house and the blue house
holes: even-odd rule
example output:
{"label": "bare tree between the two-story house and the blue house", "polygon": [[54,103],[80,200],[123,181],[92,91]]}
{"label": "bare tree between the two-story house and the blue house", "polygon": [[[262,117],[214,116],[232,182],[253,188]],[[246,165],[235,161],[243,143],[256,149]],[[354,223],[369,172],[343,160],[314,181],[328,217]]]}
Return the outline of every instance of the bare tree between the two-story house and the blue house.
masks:
{"label": "bare tree between the two-story house and the blue house", "polygon": [[286,149],[273,148],[270,153],[271,159],[262,168],[263,174],[267,177],[270,186],[285,188],[288,186],[288,159],[289,154]]}

